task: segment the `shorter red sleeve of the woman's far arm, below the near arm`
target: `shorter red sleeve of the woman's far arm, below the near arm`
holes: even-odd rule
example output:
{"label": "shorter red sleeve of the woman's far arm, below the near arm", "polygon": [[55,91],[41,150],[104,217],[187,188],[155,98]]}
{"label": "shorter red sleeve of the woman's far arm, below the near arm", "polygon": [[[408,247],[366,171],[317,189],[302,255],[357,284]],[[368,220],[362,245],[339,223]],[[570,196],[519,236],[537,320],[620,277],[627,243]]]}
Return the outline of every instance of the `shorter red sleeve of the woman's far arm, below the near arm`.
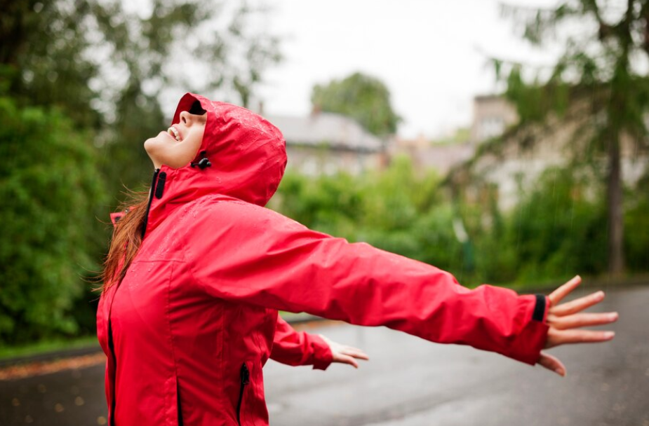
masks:
{"label": "shorter red sleeve of the woman's far arm, below the near arm", "polygon": [[320,336],[295,331],[282,317],[277,317],[270,357],[282,364],[312,365],[319,370],[326,370],[333,360],[329,345]]}

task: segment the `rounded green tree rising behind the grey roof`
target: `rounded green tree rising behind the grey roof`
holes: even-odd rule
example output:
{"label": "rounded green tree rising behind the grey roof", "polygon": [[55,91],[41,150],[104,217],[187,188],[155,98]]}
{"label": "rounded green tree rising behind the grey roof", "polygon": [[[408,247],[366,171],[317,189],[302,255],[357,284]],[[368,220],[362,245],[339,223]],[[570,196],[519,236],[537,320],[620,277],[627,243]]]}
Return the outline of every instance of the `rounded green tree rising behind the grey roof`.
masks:
{"label": "rounded green tree rising behind the grey roof", "polygon": [[314,85],[311,103],[314,111],[352,117],[378,136],[394,135],[401,121],[392,109],[386,85],[378,78],[359,72],[342,80]]}

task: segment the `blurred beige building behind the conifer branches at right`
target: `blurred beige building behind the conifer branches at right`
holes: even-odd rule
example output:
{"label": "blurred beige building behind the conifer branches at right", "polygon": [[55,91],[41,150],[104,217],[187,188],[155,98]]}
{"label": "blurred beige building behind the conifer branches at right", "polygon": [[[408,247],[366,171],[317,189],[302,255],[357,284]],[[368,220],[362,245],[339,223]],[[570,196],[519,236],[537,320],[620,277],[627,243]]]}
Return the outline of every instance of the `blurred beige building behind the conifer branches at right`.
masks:
{"label": "blurred beige building behind the conifer branches at right", "polygon": [[[583,159],[594,165],[594,173],[606,173],[606,156],[587,149],[587,143],[594,137],[587,109],[573,107],[562,118],[551,116],[537,125],[505,125],[504,133],[495,137],[496,123],[513,116],[505,112],[507,107],[497,107],[493,99],[479,103],[476,102],[473,135],[489,139],[482,139],[474,156],[455,165],[447,178],[456,195],[464,200],[484,203],[491,198],[500,209],[511,209],[521,193],[533,188],[544,170],[567,166],[575,152],[583,152]],[[497,119],[495,111],[499,108],[502,114]],[[634,149],[631,140],[624,137],[621,151],[622,179],[633,186],[647,171],[648,153]]]}

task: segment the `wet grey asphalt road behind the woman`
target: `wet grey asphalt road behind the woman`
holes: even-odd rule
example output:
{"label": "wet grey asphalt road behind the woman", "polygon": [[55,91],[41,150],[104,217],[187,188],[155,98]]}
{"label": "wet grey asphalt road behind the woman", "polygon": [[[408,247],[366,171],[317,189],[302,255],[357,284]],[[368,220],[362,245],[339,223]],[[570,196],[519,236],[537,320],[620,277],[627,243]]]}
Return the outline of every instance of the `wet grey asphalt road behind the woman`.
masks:
{"label": "wet grey asphalt road behind the woman", "polygon": [[[608,290],[598,310],[620,312],[617,336],[553,350],[566,378],[384,328],[318,324],[309,331],[371,360],[328,371],[269,362],[271,425],[649,426],[649,287]],[[0,381],[1,426],[102,425],[105,413],[103,366]]]}

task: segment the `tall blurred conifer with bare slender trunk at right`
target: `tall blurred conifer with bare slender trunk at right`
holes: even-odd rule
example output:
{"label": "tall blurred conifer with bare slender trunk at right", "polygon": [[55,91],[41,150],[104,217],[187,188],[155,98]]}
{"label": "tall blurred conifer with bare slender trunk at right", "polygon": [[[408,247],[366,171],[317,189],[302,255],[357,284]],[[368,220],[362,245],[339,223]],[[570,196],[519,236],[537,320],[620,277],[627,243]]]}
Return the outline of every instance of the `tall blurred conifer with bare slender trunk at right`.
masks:
{"label": "tall blurred conifer with bare slender trunk at right", "polygon": [[[573,153],[585,159],[594,153],[608,158],[608,270],[624,271],[624,218],[621,145],[646,145],[649,112],[649,1],[564,0],[554,8],[503,6],[503,13],[521,22],[523,38],[535,46],[559,41],[563,55],[545,78],[532,83],[521,64],[495,60],[505,75],[507,97],[523,123],[542,121],[584,107],[587,116],[573,135]],[[509,69],[504,69],[509,65]],[[507,72],[504,72],[507,71]]]}

